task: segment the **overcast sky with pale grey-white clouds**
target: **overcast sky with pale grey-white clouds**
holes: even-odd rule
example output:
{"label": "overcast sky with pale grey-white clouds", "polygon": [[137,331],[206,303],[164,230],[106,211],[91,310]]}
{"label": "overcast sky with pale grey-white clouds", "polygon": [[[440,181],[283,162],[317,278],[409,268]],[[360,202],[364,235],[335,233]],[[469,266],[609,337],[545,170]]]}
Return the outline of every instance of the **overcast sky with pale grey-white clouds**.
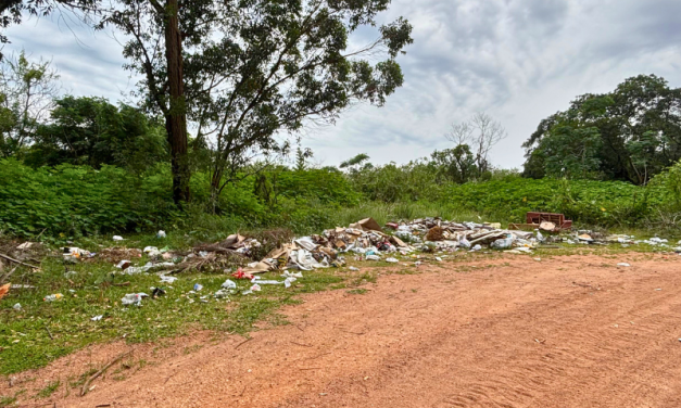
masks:
{"label": "overcast sky with pale grey-white clouds", "polygon": [[[493,164],[520,167],[520,144],[576,95],[638,74],[681,86],[680,15],[679,0],[393,0],[381,21],[414,25],[414,44],[399,58],[404,87],[381,109],[357,106],[308,130],[303,144],[324,165],[357,153],[406,163],[451,146],[443,135],[453,122],[487,112],[508,131]],[[121,100],[134,89],[111,33],[52,18],[7,34],[3,52],[52,60],[71,93]]]}

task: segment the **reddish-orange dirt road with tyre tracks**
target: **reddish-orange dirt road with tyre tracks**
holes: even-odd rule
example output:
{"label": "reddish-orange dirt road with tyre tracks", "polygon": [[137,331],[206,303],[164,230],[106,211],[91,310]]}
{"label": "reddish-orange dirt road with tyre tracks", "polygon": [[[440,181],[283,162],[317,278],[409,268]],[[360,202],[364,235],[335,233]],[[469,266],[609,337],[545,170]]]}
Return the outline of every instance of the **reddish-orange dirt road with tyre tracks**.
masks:
{"label": "reddish-orange dirt road with tyre tracks", "polygon": [[[632,267],[616,267],[620,262]],[[247,343],[232,336],[189,354],[167,347],[125,380],[110,375],[85,397],[51,400],[56,407],[680,407],[680,263],[638,254],[522,256],[382,276],[366,294],[308,295],[285,310],[293,324],[255,332]],[[205,334],[187,340],[205,341]],[[38,381],[123,349],[78,353],[39,371]]]}

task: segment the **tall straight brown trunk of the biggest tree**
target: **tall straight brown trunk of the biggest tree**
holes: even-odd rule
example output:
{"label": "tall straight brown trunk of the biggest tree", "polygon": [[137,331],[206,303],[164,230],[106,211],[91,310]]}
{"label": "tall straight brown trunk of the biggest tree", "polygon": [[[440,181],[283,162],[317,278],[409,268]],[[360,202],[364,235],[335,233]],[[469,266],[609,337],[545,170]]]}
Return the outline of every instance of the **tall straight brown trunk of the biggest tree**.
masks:
{"label": "tall straight brown trunk of the biggest tree", "polygon": [[167,0],[165,24],[165,58],[168,69],[171,106],[165,118],[171,166],[173,171],[173,200],[181,205],[189,201],[189,157],[187,155],[187,110],[185,106],[185,79],[182,75],[182,38],[179,31],[178,2]]}

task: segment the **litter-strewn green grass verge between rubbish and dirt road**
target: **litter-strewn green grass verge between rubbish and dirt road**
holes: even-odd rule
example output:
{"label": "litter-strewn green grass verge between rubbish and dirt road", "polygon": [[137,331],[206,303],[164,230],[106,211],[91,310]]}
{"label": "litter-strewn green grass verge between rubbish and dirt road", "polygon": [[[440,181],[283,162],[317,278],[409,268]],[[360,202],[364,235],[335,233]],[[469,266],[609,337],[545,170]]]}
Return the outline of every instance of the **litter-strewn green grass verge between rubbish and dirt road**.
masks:
{"label": "litter-strewn green grass verge between rubbish and dirt road", "polygon": [[[153,235],[127,238],[128,240],[124,242],[129,247],[167,245],[185,248],[189,245],[188,242],[193,242],[192,238],[182,238],[180,232],[168,233],[167,240],[160,240]],[[74,245],[99,251],[102,246],[112,246],[113,242],[90,238],[83,239]],[[619,256],[629,252],[660,251],[659,247],[650,245],[563,246],[558,250],[538,250],[530,256],[541,258],[572,254]],[[443,264],[434,262],[434,256],[424,255],[420,260],[444,267]],[[503,254],[499,252],[484,254],[459,252],[455,256],[446,257],[445,262],[461,272],[475,272],[489,268],[488,262],[501,256]],[[357,264],[352,262],[351,257],[348,258],[348,267],[358,266],[362,271],[348,272],[345,267],[303,272],[304,278],[289,290],[282,285],[263,285],[262,292],[252,295],[238,294],[228,299],[216,299],[212,293],[220,289],[222,283],[228,278],[225,275],[179,275],[174,284],[162,285],[155,273],[112,275],[112,271],[116,270],[113,265],[97,258],[92,263],[64,265],[61,256],[47,257],[42,260],[40,271],[20,268],[12,277],[14,284],[35,288],[14,289],[0,299],[0,374],[43,367],[61,356],[94,343],[116,340],[125,340],[128,343],[162,341],[194,330],[244,335],[261,321],[270,326],[286,324],[286,319],[277,310],[283,305],[300,303],[298,298],[300,294],[325,290],[348,290],[349,294],[365,294],[366,290],[361,286],[376,283],[379,275],[377,270],[380,269],[383,273],[383,267],[390,268],[384,270],[386,273],[420,273],[418,268],[403,266],[395,268],[403,263],[413,265],[416,260],[413,258],[403,258],[400,264],[384,262]],[[143,265],[147,260],[144,257],[134,259],[138,265]],[[478,268],[456,266],[471,262],[480,262],[481,266]],[[263,275],[263,279],[281,278],[278,273],[270,272]],[[129,284],[117,285],[125,282]],[[204,286],[199,293],[192,293],[196,283]],[[239,290],[250,286],[249,281],[237,283]],[[157,285],[165,289],[167,293],[165,296],[144,298],[141,307],[122,306],[121,299],[125,294],[138,292],[150,294],[151,288]],[[51,303],[43,301],[45,296],[53,293],[61,293],[64,297]],[[16,303],[22,305],[21,311],[12,308]],[[91,320],[99,315],[103,316],[101,320]],[[71,382],[81,380],[73,379]],[[45,393],[47,392],[48,388],[45,390]]]}

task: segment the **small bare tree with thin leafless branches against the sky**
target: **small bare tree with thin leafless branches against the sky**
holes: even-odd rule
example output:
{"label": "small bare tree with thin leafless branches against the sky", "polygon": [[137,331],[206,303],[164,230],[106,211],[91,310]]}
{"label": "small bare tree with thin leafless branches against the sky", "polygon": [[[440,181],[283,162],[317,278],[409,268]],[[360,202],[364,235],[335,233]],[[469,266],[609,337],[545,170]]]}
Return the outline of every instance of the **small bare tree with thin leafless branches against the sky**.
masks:
{"label": "small bare tree with thin leafless branches against the sky", "polygon": [[453,124],[445,138],[456,143],[456,146],[467,145],[475,156],[478,173],[482,175],[490,169],[490,151],[496,143],[505,139],[506,130],[492,116],[479,112],[468,120]]}

